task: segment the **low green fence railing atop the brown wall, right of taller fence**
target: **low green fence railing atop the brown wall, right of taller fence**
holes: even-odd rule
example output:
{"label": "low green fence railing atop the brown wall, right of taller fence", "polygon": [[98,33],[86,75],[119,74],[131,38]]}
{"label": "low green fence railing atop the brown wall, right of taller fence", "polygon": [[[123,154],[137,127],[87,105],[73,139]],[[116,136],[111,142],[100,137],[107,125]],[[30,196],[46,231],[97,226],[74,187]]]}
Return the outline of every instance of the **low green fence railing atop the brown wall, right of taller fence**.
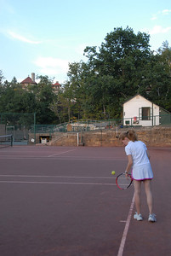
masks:
{"label": "low green fence railing atop the brown wall, right of taller fence", "polygon": [[116,130],[122,128],[140,129],[154,126],[171,126],[171,114],[157,115],[153,117],[132,117],[125,119],[103,119],[90,120],[79,119],[60,125],[34,125],[31,132],[36,134],[49,134],[50,136],[57,132],[80,132],[80,131],[100,131]]}

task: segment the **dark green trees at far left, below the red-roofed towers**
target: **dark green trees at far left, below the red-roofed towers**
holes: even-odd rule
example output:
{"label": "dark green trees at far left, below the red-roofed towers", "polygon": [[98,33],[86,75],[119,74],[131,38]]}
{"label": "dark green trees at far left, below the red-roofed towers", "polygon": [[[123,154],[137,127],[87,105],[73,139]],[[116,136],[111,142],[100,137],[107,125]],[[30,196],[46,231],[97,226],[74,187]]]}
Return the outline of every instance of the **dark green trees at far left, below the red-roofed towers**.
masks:
{"label": "dark green trees at far left, below the red-roofed towers", "polygon": [[54,92],[48,77],[40,78],[39,84],[30,85],[27,90],[14,78],[1,86],[0,113],[37,113],[37,124],[50,124],[56,119],[49,108],[52,101]]}

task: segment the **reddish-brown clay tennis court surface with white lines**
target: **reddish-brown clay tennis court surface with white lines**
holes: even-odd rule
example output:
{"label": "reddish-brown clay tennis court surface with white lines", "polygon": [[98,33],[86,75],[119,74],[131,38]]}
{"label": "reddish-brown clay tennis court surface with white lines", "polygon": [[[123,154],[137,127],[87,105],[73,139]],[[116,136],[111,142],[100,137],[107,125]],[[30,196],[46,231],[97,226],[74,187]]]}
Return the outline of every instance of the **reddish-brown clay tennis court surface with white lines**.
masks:
{"label": "reddish-brown clay tennis court surface with white lines", "polygon": [[0,255],[169,255],[171,148],[149,148],[154,212],[133,219],[134,189],[117,189],[124,148],[0,148]]}

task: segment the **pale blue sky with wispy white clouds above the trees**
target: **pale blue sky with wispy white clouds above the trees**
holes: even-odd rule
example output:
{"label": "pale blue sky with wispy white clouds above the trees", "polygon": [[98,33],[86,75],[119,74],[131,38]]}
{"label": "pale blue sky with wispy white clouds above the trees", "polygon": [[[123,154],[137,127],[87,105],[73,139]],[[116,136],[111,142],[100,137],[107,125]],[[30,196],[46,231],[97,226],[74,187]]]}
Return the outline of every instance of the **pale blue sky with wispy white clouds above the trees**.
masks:
{"label": "pale blue sky with wispy white clouds above the trees", "polygon": [[62,84],[69,62],[121,26],[148,32],[153,50],[171,47],[171,1],[0,0],[0,70],[9,82],[35,73]]}

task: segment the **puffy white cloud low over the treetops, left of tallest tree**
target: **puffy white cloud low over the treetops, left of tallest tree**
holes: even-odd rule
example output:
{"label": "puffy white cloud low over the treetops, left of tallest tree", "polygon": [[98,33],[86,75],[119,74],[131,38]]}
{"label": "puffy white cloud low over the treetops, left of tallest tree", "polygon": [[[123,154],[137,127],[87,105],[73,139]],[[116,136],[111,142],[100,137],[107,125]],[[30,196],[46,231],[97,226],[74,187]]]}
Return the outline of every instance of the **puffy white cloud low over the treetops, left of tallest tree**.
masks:
{"label": "puffy white cloud low over the treetops, left of tallest tree", "polygon": [[34,64],[40,68],[40,72],[46,75],[57,75],[68,72],[69,61],[53,58],[38,57]]}

